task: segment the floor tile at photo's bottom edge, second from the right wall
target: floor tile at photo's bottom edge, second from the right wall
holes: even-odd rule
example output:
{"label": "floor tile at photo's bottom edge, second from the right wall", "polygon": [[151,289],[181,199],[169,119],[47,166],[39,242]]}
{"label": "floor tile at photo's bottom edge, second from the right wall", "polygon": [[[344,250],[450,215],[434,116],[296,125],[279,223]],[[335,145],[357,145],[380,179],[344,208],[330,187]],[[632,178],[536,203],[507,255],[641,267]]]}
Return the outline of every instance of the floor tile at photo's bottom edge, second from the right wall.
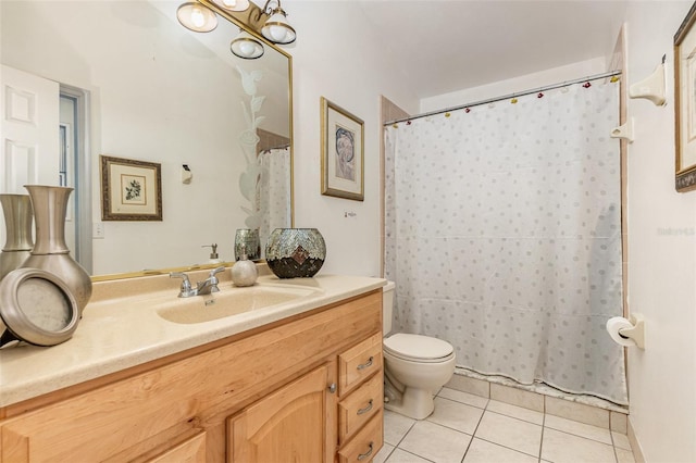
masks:
{"label": "floor tile at photo's bottom edge, second from the right wall", "polygon": [[554,463],[616,462],[613,447],[550,428],[544,429],[542,459]]}

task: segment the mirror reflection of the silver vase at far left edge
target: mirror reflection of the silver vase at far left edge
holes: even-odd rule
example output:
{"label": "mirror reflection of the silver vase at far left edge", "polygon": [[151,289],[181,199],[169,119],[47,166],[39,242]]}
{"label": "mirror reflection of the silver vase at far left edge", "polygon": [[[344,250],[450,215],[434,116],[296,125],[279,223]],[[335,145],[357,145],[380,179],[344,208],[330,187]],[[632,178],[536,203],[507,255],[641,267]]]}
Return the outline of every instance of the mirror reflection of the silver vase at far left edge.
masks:
{"label": "mirror reflection of the silver vase at far left edge", "polygon": [[17,268],[29,256],[32,239],[32,200],[28,195],[0,195],[7,237],[0,252],[0,279]]}

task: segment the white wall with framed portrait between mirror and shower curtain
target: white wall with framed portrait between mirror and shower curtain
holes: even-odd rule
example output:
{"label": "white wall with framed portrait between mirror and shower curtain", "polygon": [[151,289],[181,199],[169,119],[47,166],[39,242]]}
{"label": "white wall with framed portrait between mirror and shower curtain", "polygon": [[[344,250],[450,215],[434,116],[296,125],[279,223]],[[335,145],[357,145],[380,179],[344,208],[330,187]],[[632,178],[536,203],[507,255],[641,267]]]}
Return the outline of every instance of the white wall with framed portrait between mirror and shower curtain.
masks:
{"label": "white wall with framed portrait between mirror and shower curtain", "polygon": [[[322,273],[378,276],[380,96],[407,111],[418,102],[366,27],[356,3],[293,1],[284,7],[298,33],[293,54],[295,226],[319,228],[326,240]],[[340,18],[340,21],[334,21]],[[321,195],[320,98],[364,121],[364,201]],[[345,217],[346,212],[355,217]]]}

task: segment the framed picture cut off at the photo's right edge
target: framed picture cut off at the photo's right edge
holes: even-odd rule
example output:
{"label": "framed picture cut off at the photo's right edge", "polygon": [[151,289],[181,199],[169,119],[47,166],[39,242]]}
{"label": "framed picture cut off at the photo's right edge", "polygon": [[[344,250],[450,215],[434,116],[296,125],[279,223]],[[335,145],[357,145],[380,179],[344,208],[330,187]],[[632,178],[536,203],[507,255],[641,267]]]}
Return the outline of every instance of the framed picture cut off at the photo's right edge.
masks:
{"label": "framed picture cut off at the photo's right edge", "polygon": [[674,35],[676,191],[696,189],[696,3]]}

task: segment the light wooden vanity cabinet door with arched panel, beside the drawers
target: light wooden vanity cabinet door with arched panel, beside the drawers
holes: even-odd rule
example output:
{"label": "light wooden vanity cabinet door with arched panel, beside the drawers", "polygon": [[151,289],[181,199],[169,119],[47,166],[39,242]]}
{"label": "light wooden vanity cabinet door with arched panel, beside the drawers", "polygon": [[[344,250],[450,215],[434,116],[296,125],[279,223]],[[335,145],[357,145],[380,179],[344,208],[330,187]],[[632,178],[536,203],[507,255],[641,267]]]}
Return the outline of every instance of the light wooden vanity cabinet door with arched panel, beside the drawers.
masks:
{"label": "light wooden vanity cabinet door with arched panel, beside the drawers", "polygon": [[228,461],[321,462],[333,454],[332,370],[335,363],[325,364],[229,418]]}

